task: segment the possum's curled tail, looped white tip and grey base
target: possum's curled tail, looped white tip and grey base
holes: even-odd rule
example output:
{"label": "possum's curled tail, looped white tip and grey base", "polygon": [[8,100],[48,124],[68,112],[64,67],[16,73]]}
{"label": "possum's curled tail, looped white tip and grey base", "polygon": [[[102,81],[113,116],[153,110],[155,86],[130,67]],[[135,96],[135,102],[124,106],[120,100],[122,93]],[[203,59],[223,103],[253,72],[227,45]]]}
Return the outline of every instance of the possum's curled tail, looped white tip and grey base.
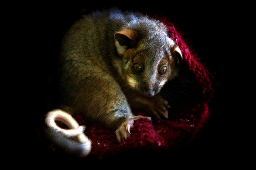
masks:
{"label": "possum's curled tail, looped white tip and grey base", "polygon": [[[55,121],[64,123],[69,129],[60,128]],[[85,126],[79,126],[69,113],[60,109],[50,111],[45,123],[48,126],[45,130],[47,137],[64,152],[77,157],[86,157],[90,153],[91,140],[83,132]]]}

